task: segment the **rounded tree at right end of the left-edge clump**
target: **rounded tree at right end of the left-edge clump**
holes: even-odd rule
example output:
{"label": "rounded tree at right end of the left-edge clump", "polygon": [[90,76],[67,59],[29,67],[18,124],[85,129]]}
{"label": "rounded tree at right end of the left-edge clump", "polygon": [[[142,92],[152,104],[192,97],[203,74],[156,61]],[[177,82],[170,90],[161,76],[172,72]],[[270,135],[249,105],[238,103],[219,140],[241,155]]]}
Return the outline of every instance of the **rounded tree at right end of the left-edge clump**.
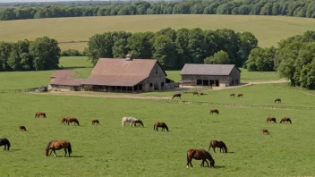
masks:
{"label": "rounded tree at right end of the left-edge clump", "polygon": [[33,56],[35,70],[58,69],[60,48],[55,39],[48,37],[36,38],[30,42],[30,55]]}

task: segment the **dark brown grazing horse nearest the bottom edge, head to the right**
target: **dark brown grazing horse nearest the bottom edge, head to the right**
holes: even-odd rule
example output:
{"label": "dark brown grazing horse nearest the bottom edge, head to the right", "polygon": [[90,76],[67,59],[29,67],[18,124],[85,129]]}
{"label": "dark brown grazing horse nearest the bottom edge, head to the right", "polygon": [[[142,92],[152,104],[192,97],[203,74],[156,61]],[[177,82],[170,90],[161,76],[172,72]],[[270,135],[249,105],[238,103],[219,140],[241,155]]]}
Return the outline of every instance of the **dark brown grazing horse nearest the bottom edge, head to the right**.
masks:
{"label": "dark brown grazing horse nearest the bottom edge, head to the right", "polygon": [[188,168],[189,164],[192,166],[192,159],[195,160],[202,160],[202,163],[200,164],[204,166],[204,162],[206,162],[209,166],[209,163],[207,159],[210,161],[210,166],[215,166],[215,159],[212,158],[210,153],[207,150],[204,149],[189,149],[187,151],[187,166]]}

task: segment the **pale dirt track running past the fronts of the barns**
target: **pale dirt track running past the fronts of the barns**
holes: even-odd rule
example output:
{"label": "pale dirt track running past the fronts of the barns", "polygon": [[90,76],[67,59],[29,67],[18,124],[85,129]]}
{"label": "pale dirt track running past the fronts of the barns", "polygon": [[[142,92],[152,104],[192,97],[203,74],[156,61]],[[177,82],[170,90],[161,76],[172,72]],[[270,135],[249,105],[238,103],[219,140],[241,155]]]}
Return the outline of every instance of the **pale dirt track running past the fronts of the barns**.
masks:
{"label": "pale dirt track running past the fronts of the barns", "polygon": [[[232,86],[232,87],[226,87],[226,88],[213,88],[210,91],[216,91],[216,90],[222,90],[222,89],[236,89],[243,86],[248,85],[256,85],[256,84],[269,84],[269,83],[284,83],[287,82],[287,80],[269,80],[269,81],[254,81],[254,82],[248,82],[244,83],[242,85],[238,86]],[[170,90],[172,91],[172,90]],[[172,99],[172,97],[145,97],[145,96],[135,96],[134,94],[123,94],[123,95],[110,95],[110,94],[104,94],[104,95],[98,95],[98,94],[85,94],[80,92],[49,92],[49,93],[33,93],[33,94],[45,94],[45,95],[59,95],[59,96],[79,96],[79,97],[109,97],[109,98],[130,98],[130,99],[142,99],[142,100],[166,100],[166,99]]]}

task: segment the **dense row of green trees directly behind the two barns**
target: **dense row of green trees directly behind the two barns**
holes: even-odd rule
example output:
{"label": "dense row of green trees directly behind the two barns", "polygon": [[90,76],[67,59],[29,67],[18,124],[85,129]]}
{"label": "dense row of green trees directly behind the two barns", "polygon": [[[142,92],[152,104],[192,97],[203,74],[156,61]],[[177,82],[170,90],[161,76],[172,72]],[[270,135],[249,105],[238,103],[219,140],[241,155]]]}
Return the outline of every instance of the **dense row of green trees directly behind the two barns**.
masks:
{"label": "dense row of green trees directly behind the two barns", "polygon": [[[234,30],[173,30],[157,32],[106,32],[89,38],[85,54],[93,64],[99,58],[124,58],[131,54],[139,59],[158,59],[165,70],[182,70],[185,63],[207,63],[209,56],[224,52],[226,60],[210,63],[231,63],[243,66],[258,40],[251,32]],[[206,60],[205,60],[206,59]]]}

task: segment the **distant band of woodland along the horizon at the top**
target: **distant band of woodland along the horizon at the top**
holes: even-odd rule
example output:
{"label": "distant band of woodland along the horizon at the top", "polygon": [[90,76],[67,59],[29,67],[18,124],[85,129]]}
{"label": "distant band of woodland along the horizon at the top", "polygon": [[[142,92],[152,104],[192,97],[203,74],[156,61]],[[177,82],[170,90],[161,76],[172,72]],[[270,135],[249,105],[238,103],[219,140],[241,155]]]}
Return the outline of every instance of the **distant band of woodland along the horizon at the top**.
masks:
{"label": "distant band of woodland along the horizon at the top", "polygon": [[143,14],[243,14],[287,15],[315,18],[313,0],[187,0],[149,4],[106,4],[90,6],[47,5],[45,7],[21,6],[0,12],[1,21]]}

